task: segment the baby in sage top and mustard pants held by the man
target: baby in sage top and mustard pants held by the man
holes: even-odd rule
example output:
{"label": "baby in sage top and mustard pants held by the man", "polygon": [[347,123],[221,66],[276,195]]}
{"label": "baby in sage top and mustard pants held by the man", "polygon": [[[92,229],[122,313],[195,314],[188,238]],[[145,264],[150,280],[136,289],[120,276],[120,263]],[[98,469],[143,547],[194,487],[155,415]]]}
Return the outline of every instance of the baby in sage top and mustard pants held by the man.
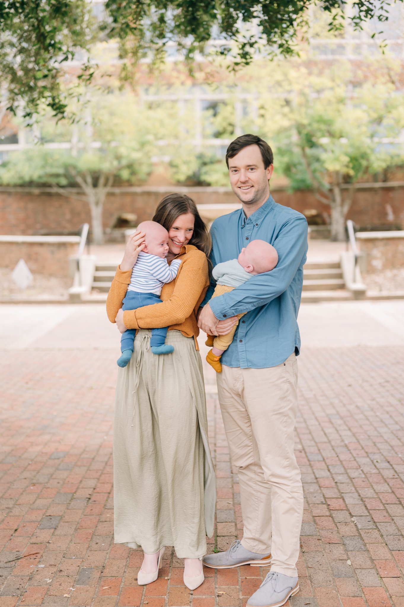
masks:
{"label": "baby in sage top and mustard pants held by the man", "polygon": [[[241,249],[237,259],[218,263],[214,267],[212,276],[217,281],[217,285],[212,297],[229,293],[252,276],[273,270],[277,263],[277,251],[269,242],[252,240],[245,248]],[[244,312],[244,314],[246,313]],[[244,314],[237,314],[237,318],[240,319]],[[221,373],[220,357],[233,341],[237,325],[238,320],[226,335],[207,336],[206,345],[213,346],[213,348],[207,353],[206,360],[217,373]]]}

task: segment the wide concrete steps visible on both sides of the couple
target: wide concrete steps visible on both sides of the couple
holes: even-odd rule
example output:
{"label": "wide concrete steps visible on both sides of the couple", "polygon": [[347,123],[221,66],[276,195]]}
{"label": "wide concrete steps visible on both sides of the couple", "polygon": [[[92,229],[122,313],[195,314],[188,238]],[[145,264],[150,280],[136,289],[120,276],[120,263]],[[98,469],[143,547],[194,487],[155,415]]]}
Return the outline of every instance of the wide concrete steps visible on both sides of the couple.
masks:
{"label": "wide concrete steps visible on both sides of the couple", "polygon": [[[116,263],[98,263],[95,266],[91,299],[106,299],[115,276]],[[339,260],[311,260],[303,268],[302,302],[344,301],[353,299],[345,289]]]}

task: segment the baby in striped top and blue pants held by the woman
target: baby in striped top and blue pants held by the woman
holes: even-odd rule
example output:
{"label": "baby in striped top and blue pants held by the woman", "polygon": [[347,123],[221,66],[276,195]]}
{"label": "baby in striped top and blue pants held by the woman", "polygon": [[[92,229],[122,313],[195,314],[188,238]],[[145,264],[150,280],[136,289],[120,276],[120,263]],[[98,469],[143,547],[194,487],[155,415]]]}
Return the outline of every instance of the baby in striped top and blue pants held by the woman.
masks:
{"label": "baby in striped top and blue pants held by the woman", "polygon": [[[143,222],[138,229],[145,232],[145,246],[139,252],[133,266],[130,285],[123,300],[123,310],[136,310],[144,305],[161,304],[160,294],[164,283],[177,276],[180,259],[173,259],[169,266],[166,260],[169,252],[168,232],[157,222]],[[121,337],[121,356],[118,366],[126,367],[133,354],[133,340],[136,330],[127,329]],[[167,327],[152,329],[150,347],[153,354],[170,354],[172,345],[166,344]]]}

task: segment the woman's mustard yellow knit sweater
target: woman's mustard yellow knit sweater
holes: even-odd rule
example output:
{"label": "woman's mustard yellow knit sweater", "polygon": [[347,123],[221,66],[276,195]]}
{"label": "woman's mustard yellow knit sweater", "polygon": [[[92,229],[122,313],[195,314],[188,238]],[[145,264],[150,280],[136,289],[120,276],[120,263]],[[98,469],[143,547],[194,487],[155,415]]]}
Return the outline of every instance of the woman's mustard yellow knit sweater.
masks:
{"label": "woman's mustard yellow knit sweater", "polygon": [[[169,331],[181,331],[186,337],[194,337],[199,350],[197,312],[209,286],[206,255],[194,245],[185,245],[176,259],[181,259],[182,263],[177,277],[163,285],[160,296],[163,303],[124,311],[124,324],[127,329],[168,327]],[[122,307],[131,274],[132,270],[123,272],[119,266],[116,270],[107,297],[107,314],[111,322],[115,322]]]}

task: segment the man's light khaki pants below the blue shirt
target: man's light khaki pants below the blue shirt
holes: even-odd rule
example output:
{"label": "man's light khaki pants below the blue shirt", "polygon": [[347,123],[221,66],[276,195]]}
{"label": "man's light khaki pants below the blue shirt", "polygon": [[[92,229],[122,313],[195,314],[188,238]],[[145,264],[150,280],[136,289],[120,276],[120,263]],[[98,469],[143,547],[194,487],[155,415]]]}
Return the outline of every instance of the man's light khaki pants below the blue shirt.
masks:
{"label": "man's light khaki pants below the blue shirt", "polygon": [[303,488],[294,455],[295,354],[277,367],[222,365],[218,398],[238,469],[244,548],[272,552],[271,571],[297,575]]}

